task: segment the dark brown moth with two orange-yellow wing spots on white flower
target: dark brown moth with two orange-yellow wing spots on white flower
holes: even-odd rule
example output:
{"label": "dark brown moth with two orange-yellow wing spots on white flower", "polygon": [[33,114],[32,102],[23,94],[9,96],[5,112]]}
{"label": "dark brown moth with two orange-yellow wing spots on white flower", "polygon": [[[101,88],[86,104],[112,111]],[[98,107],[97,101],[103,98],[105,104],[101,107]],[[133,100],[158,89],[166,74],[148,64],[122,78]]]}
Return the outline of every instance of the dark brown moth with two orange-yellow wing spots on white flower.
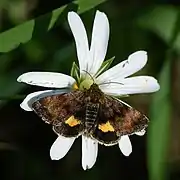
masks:
{"label": "dark brown moth with two orange-yellow wing spots on white flower", "polygon": [[145,129],[149,121],[141,112],[104,94],[95,83],[89,89],[42,97],[32,108],[57,135],[83,134],[106,146]]}

